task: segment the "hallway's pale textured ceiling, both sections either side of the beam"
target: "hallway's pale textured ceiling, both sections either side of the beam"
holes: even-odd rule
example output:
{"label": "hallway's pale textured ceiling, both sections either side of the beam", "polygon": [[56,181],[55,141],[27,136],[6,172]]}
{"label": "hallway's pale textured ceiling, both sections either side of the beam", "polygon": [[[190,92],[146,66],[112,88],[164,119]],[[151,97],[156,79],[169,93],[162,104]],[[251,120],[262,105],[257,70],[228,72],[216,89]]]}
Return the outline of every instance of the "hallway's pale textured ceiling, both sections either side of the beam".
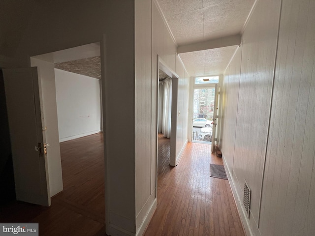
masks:
{"label": "hallway's pale textured ceiling, both sections either side of the beam", "polygon": [[[255,0],[158,0],[179,46],[241,34]],[[237,46],[179,54],[190,76],[223,74]]]}

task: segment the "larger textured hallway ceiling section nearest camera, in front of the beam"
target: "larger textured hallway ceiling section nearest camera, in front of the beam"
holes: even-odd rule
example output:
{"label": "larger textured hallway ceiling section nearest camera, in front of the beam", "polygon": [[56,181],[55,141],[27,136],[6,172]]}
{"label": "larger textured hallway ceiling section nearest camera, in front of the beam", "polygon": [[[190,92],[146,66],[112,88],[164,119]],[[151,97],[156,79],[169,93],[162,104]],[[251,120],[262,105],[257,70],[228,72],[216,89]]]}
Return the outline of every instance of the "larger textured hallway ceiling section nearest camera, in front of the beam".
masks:
{"label": "larger textured hallway ceiling section nearest camera, in front of the beam", "polygon": [[241,32],[254,0],[158,0],[178,45]]}

